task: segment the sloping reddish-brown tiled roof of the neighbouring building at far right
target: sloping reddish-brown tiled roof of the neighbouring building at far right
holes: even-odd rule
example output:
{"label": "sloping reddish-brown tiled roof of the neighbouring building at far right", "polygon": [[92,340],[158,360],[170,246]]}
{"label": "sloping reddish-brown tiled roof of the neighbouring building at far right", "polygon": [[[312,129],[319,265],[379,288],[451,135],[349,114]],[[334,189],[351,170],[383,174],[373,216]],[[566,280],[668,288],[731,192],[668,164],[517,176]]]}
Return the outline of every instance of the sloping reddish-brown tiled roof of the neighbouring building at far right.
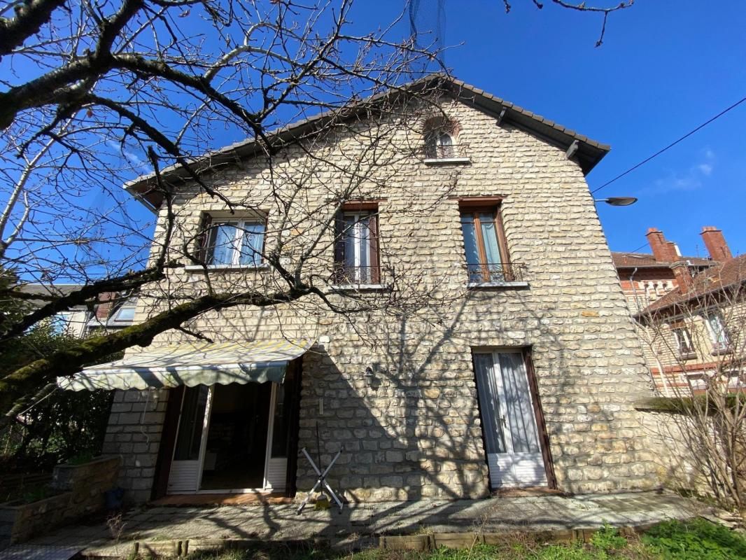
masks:
{"label": "sloping reddish-brown tiled roof of the neighbouring building at far right", "polygon": [[662,298],[648,305],[638,316],[667,308],[676,308],[685,302],[697,300],[726,287],[737,286],[746,282],[746,255],[731,258],[724,263],[713,261],[713,266],[699,273],[692,279],[689,287],[679,286],[666,293]]}

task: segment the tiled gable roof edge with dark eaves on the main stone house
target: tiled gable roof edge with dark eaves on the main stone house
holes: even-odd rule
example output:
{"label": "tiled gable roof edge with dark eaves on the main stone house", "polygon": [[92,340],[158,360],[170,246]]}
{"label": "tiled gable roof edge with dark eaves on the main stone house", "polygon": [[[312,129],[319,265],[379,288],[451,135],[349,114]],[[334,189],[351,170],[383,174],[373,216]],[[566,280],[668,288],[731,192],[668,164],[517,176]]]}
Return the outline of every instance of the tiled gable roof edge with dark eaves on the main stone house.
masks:
{"label": "tiled gable roof edge with dark eaves on the main stone house", "polygon": [[[345,108],[322,111],[315,116],[298,120],[283,128],[278,128],[278,130],[272,131],[269,137],[281,146],[283,143],[297,140],[307,134],[319,131],[320,125],[323,125],[334,116],[344,114],[345,118],[352,118],[357,116],[356,109],[359,108],[361,111],[364,111],[371,102],[382,101],[386,98],[390,99],[391,96],[395,95],[409,95],[428,87],[439,88],[445,93],[454,96],[455,99],[459,99],[474,108],[495,116],[500,116],[501,122],[508,122],[511,125],[536,134],[542,140],[560,146],[565,150],[577,142],[577,152],[575,152],[574,157],[577,158],[580,169],[583,170],[584,174],[590,172],[604,158],[604,155],[609,152],[609,149],[611,149],[610,146],[604,143],[592,140],[570,128],[565,128],[557,122],[532,113],[527,109],[515,105],[513,102],[493,96],[492,93],[487,93],[478,87],[445,75],[445,73],[424,76],[424,78],[404,84],[401,87],[392,88],[387,92],[371,96],[363,102],[357,102]],[[258,155],[261,149],[262,146],[256,140],[243,140],[242,142],[233,143],[214,152],[208,152],[204,156],[191,161],[189,165],[195,170],[198,168],[209,169],[216,165],[233,163],[242,158]],[[172,165],[162,169],[161,176],[188,178],[189,174],[183,167]],[[125,189],[137,197],[137,199],[140,199],[151,210],[160,205],[159,197],[154,196],[154,193],[148,193],[149,185],[154,178],[154,173],[150,173],[148,175],[141,175],[125,184]]]}

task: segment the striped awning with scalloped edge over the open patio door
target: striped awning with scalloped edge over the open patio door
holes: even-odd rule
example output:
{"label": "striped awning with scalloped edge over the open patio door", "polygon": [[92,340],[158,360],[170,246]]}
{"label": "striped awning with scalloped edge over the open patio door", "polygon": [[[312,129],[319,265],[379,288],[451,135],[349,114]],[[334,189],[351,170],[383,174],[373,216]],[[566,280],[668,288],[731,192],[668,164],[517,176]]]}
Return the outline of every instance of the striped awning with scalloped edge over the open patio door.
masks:
{"label": "striped awning with scalloped edge over the open patio door", "polygon": [[57,385],[69,391],[171,388],[179,385],[282,383],[287,364],[313,340],[184,343],[147,348],[108,364],[86,367]]}

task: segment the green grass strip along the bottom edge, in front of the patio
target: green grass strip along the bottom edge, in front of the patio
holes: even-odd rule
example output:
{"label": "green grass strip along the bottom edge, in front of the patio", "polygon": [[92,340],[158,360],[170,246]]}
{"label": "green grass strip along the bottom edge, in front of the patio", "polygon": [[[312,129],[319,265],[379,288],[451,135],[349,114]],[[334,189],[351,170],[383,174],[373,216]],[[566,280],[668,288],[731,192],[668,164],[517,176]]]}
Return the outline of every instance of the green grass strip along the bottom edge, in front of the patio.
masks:
{"label": "green grass strip along the bottom edge, in front of the patio", "polygon": [[625,538],[606,526],[588,544],[542,544],[528,535],[506,535],[499,545],[439,548],[427,553],[363,550],[342,553],[318,547],[268,544],[251,550],[195,553],[189,560],[743,560],[746,537],[703,519],[667,521],[641,538]]}

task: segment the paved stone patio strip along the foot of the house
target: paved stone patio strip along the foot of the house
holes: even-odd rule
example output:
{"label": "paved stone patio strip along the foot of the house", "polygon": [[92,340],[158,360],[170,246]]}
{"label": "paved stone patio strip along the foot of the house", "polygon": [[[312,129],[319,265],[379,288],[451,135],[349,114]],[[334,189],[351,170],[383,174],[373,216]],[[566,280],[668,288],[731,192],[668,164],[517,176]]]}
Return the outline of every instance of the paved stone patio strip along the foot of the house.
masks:
{"label": "paved stone patio strip along the foot of the house", "polygon": [[413,532],[514,532],[640,526],[709,511],[675,494],[635,492],[574,497],[495,497],[489,500],[420,500],[360,503],[300,515],[292,504],[145,507],[122,515],[119,538],[106,523],[68,526],[31,545],[78,547],[85,556],[127,556],[134,542],[323,538],[330,544],[374,544],[381,535]]}

